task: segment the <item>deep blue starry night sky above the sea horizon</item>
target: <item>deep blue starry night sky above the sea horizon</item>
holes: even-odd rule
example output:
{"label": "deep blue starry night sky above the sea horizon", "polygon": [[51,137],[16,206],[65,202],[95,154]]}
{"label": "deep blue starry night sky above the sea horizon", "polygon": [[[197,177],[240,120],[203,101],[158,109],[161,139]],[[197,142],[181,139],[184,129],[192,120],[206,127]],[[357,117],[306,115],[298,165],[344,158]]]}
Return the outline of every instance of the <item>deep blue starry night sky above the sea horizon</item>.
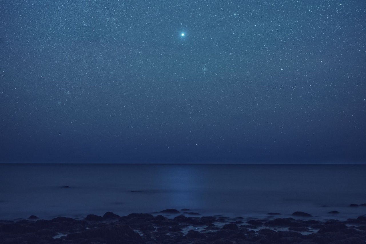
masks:
{"label": "deep blue starry night sky above the sea horizon", "polygon": [[0,162],[366,162],[365,1],[0,13]]}

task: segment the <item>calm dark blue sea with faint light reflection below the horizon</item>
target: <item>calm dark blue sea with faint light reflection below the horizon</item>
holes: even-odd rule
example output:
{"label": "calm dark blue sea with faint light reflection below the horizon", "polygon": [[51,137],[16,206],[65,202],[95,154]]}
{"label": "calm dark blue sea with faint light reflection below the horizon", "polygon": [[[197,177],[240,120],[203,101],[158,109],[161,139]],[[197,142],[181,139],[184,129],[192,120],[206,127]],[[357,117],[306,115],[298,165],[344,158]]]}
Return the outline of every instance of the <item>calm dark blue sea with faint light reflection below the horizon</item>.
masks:
{"label": "calm dark blue sea with faint light reflection below the horizon", "polygon": [[[366,207],[349,207],[366,203],[365,175],[366,165],[0,164],[0,219],[168,208],[347,219],[366,214]],[[327,214],[332,210],[340,214]]]}

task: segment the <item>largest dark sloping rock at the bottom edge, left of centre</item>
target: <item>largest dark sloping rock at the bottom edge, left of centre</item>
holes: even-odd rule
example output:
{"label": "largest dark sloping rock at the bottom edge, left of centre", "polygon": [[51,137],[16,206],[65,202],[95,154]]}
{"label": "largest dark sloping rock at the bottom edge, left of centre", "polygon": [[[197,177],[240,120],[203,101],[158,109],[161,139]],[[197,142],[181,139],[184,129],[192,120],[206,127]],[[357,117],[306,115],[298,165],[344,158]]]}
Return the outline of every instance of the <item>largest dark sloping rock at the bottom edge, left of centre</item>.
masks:
{"label": "largest dark sloping rock at the bottom edge, left of centre", "polygon": [[[97,229],[89,229],[79,233],[72,233],[66,236],[66,240],[100,239],[101,243],[142,243],[140,235],[134,232],[128,225],[106,226]],[[79,242],[78,242],[79,243]],[[87,242],[89,243],[89,242]]]}

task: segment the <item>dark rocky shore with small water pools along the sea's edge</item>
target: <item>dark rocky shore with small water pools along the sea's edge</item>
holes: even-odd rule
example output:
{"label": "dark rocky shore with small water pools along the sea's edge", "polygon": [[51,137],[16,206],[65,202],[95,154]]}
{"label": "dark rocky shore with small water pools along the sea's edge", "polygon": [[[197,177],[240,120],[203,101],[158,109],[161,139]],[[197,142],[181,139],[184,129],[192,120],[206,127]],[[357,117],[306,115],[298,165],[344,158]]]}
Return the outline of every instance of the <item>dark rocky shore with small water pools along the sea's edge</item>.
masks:
{"label": "dark rocky shore with small water pools along the sea's edge", "polygon": [[[291,218],[269,213],[265,219],[201,216],[189,209],[133,213],[120,217],[107,212],[72,219],[0,221],[3,244],[365,244],[366,216],[326,222],[295,212]],[[302,218],[302,219],[298,219]],[[307,218],[307,219],[304,219]]]}

